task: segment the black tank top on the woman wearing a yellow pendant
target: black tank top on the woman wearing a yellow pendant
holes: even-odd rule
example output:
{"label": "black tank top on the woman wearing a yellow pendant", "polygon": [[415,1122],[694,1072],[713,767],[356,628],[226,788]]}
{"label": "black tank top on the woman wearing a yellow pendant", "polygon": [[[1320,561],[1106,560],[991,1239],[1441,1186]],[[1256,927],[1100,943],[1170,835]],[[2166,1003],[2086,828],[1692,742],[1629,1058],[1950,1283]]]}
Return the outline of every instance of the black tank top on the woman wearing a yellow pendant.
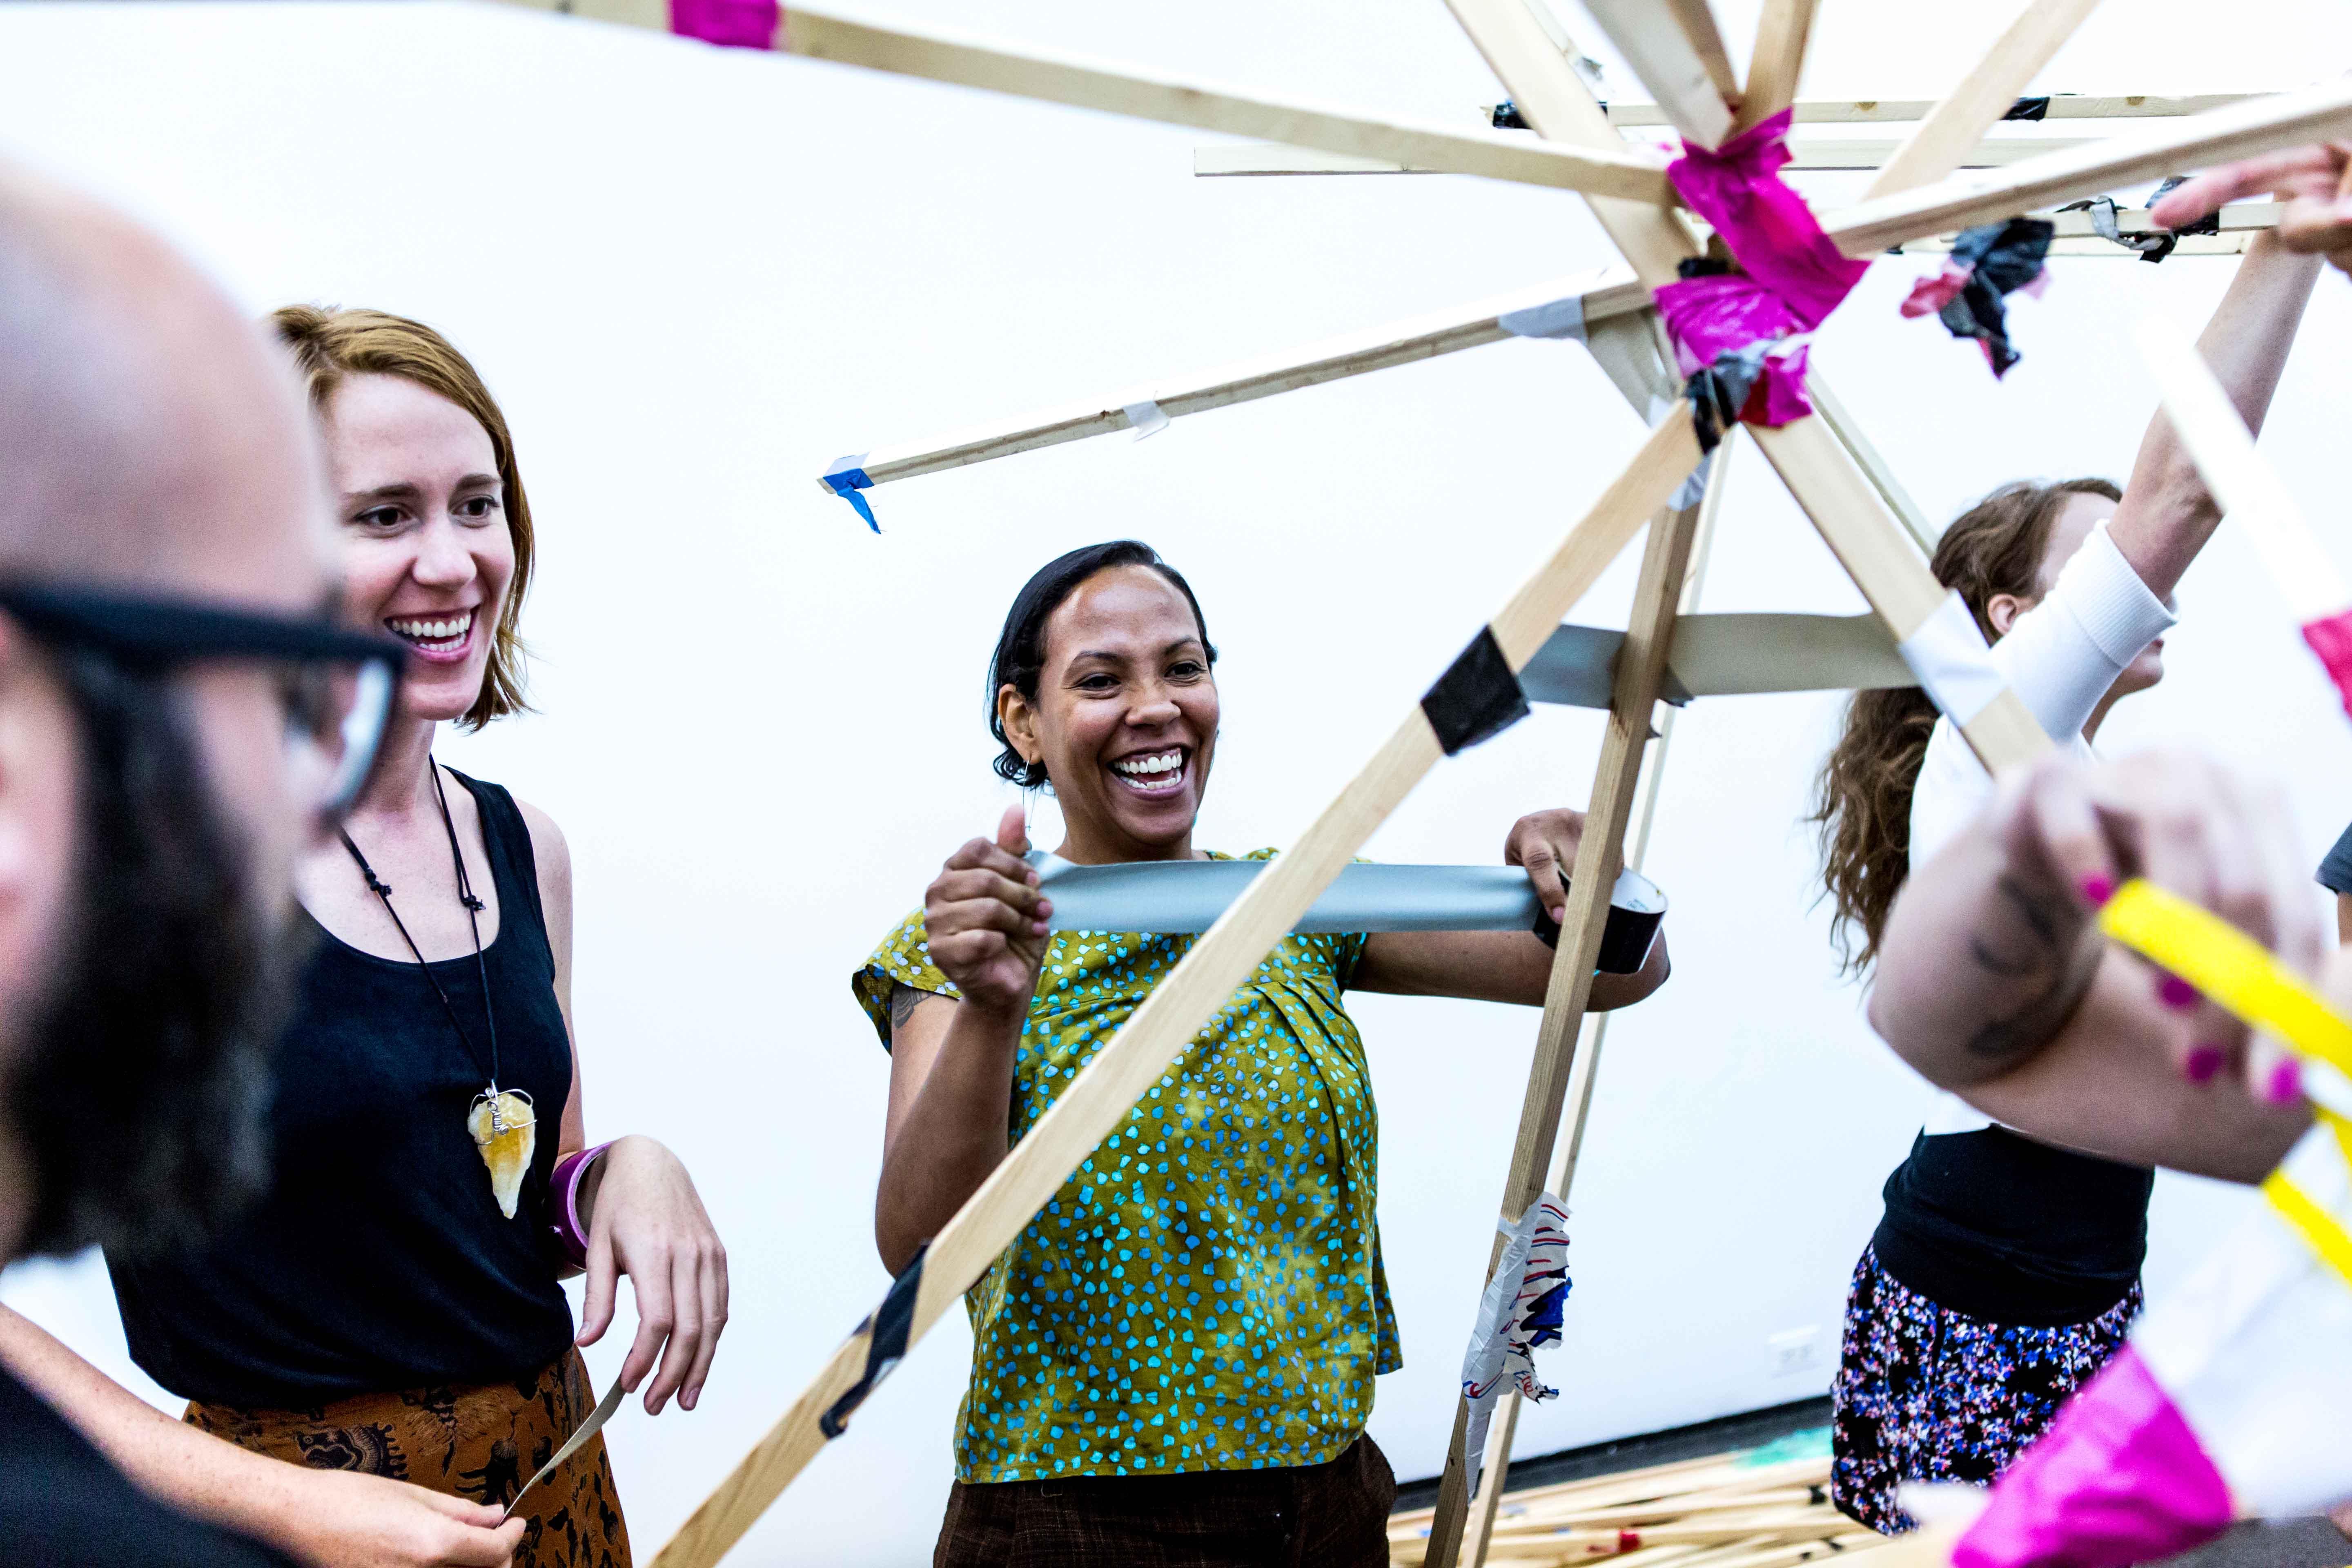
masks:
{"label": "black tank top on the woman wearing a yellow pendant", "polygon": [[270,1194],[200,1255],[106,1260],[132,1359],[183,1399],[282,1410],[503,1382],[572,1342],[548,1234],[572,1046],[532,835],[513,795],[449,776],[480,806],[499,889],[482,950],[499,1086],[527,1091],[539,1114],[515,1218],[466,1131],[489,1056],[473,954],[433,964],[468,1051],[414,959],[365,954],[310,922],[318,947],[275,1060]]}

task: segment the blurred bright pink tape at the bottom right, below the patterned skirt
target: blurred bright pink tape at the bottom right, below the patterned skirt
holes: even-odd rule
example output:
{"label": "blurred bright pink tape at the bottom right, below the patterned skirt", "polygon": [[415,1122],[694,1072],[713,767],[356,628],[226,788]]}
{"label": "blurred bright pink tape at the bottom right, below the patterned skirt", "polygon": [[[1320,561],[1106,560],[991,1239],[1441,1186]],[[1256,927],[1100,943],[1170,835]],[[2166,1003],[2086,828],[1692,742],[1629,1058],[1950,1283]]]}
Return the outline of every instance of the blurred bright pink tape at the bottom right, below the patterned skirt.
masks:
{"label": "blurred bright pink tape at the bottom right, below the patterned skirt", "polygon": [[1952,1568],[2129,1568],[2230,1528],[2230,1486],[2126,1345],[2009,1467]]}

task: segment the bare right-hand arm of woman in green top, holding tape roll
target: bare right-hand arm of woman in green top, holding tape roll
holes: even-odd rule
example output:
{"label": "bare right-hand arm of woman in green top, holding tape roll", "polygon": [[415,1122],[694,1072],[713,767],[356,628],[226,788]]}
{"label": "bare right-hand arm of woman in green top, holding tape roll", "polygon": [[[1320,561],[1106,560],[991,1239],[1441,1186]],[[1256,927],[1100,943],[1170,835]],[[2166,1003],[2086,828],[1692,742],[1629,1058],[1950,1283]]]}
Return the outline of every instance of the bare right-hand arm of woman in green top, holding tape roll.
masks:
{"label": "bare right-hand arm of woman in green top, holding tape roll", "polygon": [[[1510,827],[1503,863],[1526,867],[1552,919],[1566,914],[1569,867],[1585,837],[1583,811],[1536,811]],[[1672,961],[1665,931],[1630,976],[1592,976],[1588,1011],[1609,1013],[1665,985]],[[1531,931],[1381,931],[1364,943],[1350,985],[1399,997],[1465,997],[1543,1006],[1552,980],[1552,950]]]}

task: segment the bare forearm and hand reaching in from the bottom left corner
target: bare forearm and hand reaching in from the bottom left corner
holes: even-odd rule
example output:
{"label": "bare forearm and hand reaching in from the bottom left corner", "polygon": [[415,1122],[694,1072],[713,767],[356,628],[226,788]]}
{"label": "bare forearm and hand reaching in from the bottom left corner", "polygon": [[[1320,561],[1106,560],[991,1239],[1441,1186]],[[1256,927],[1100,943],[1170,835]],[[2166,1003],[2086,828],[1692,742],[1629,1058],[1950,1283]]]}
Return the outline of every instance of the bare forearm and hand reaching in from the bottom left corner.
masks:
{"label": "bare forearm and hand reaching in from the bottom left corner", "polygon": [[306,1469],[176,1422],[0,1307],[0,1361],[141,1490],[318,1568],[499,1568],[522,1519],[355,1469]]}

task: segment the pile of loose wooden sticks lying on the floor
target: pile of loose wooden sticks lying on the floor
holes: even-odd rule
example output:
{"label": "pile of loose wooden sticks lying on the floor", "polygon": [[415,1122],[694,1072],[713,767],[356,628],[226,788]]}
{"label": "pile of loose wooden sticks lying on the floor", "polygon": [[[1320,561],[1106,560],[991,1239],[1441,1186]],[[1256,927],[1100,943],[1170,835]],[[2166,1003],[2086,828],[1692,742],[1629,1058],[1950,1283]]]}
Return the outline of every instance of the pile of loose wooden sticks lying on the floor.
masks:
{"label": "pile of loose wooden sticks lying on the floor", "polygon": [[[1811,1439],[1811,1441],[1806,1441]],[[1785,1458],[1792,1450],[1795,1458]],[[1489,1563],[1550,1568],[1792,1568],[1886,1537],[1830,1507],[1828,1432],[1583,1481],[1505,1490]],[[1397,1568],[1418,1568],[1430,1509],[1388,1521]]]}

